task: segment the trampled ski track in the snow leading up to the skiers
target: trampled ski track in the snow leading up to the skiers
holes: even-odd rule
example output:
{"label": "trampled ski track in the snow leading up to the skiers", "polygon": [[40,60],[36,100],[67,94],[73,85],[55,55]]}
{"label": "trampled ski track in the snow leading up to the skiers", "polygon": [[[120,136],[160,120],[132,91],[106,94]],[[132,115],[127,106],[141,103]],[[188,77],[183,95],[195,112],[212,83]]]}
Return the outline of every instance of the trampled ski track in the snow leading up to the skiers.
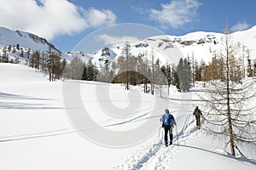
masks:
{"label": "trampled ski track in the snow leading up to the skiers", "polygon": [[[183,122],[182,122],[183,120]],[[195,120],[191,114],[177,117],[177,122],[183,124],[177,135],[175,127],[173,129],[174,139],[172,145],[166,147],[160,139],[154,139],[153,142],[146,144],[141,150],[137,150],[124,162],[113,167],[113,170],[165,170],[170,169],[169,161],[175,159],[178,152],[178,144],[186,144],[190,138],[196,137],[198,131],[194,124]],[[163,134],[162,134],[163,135]],[[178,137],[178,139],[177,139]]]}

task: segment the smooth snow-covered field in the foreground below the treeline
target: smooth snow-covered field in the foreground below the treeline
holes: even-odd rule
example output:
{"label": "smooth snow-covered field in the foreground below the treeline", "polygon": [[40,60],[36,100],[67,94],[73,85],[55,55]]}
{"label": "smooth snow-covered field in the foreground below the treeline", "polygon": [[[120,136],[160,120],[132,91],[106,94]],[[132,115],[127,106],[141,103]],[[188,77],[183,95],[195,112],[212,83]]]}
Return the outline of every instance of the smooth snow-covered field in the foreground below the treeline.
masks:
{"label": "smooth snow-covered field in the foreground below the treeline", "polygon": [[[48,82],[31,68],[11,64],[0,64],[0,80],[1,170],[256,167],[255,151],[247,151],[249,157],[230,156],[220,140],[195,129],[192,111],[201,102],[193,93],[173,90],[160,99],[141,88],[127,92],[107,83]],[[69,85],[79,87],[78,100],[73,99],[76,89],[67,95]],[[73,119],[79,100],[94,123]],[[166,107],[177,120],[174,144],[167,148],[159,122]]]}

